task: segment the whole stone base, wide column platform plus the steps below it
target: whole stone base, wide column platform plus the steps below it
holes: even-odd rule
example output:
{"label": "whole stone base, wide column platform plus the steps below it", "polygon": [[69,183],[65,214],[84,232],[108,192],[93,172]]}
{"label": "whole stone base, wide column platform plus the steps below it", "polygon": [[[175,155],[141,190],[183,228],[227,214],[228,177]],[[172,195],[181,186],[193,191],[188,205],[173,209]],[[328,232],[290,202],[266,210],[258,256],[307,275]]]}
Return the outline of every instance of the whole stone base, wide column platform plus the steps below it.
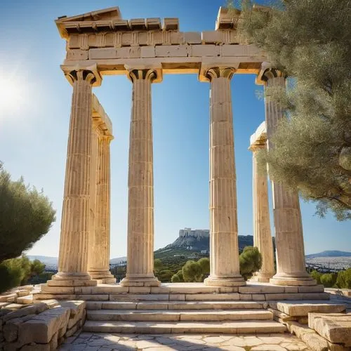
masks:
{"label": "whole stone base, wide column platform plus the steps below it", "polygon": [[[50,286],[36,300],[86,300],[84,331],[98,333],[284,333],[286,326],[267,310],[272,301],[329,300],[323,286]],[[327,302],[327,301],[326,301]],[[345,308],[345,307],[344,307]]]}

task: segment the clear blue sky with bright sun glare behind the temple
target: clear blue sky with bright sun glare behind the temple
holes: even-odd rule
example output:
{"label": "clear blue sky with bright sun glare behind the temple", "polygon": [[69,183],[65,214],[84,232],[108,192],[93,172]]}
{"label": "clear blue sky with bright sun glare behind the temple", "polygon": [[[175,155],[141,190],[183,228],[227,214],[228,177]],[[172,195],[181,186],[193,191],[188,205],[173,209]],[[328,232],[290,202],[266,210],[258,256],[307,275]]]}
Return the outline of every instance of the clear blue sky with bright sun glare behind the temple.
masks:
{"label": "clear blue sky with bright sun glare behind the temple", "polygon": [[[123,18],[178,17],[181,31],[214,29],[225,0],[4,0],[0,22],[0,160],[13,178],[44,189],[57,220],[28,252],[57,256],[60,238],[65,157],[72,87],[60,64],[65,41],[54,20],[119,6]],[[252,234],[251,152],[249,137],[264,120],[255,76],[234,75],[235,157],[239,234]],[[128,132],[131,82],[104,77],[94,89],[112,119],[111,256],[126,254]],[[152,86],[154,123],[155,249],[171,243],[183,227],[208,228],[209,85],[195,74],[164,75]],[[301,204],[306,253],[351,251],[351,223],[314,216]],[[272,223],[272,217],[271,217]]]}

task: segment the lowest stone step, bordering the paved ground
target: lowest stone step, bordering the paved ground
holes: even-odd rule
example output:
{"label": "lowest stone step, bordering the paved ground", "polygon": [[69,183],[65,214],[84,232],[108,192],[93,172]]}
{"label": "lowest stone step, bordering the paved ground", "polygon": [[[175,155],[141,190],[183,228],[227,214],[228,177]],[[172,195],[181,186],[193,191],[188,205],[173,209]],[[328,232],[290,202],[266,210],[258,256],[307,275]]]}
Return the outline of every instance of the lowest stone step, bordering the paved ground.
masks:
{"label": "lowest stone step, bordering the paved ground", "polygon": [[284,333],[286,326],[273,321],[237,322],[109,322],[86,321],[84,331],[93,333]]}

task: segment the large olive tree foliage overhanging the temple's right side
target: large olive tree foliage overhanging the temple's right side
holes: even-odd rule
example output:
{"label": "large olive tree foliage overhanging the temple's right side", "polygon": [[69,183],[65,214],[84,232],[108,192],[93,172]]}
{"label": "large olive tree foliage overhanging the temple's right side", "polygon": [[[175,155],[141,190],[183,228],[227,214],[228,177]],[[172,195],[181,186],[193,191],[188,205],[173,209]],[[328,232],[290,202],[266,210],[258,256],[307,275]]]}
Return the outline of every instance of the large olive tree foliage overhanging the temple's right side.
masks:
{"label": "large olive tree foliage overhanging the temple's right side", "polygon": [[[293,77],[287,90],[267,89],[286,112],[260,152],[270,178],[315,201],[317,214],[351,218],[351,1],[240,1],[239,32]],[[233,4],[233,3],[232,3]]]}

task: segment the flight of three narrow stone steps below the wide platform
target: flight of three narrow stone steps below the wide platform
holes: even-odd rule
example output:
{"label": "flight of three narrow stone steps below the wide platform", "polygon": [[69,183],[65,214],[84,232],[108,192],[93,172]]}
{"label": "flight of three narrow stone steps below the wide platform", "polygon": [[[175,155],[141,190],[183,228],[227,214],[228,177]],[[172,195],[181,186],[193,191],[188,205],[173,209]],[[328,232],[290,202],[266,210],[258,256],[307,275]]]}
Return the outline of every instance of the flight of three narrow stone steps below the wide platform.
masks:
{"label": "flight of three narrow stone steps below the wide platform", "polygon": [[[217,296],[216,296],[217,295]],[[265,303],[254,301],[87,301],[84,331],[103,333],[284,333]],[[223,296],[222,296],[223,298]]]}

